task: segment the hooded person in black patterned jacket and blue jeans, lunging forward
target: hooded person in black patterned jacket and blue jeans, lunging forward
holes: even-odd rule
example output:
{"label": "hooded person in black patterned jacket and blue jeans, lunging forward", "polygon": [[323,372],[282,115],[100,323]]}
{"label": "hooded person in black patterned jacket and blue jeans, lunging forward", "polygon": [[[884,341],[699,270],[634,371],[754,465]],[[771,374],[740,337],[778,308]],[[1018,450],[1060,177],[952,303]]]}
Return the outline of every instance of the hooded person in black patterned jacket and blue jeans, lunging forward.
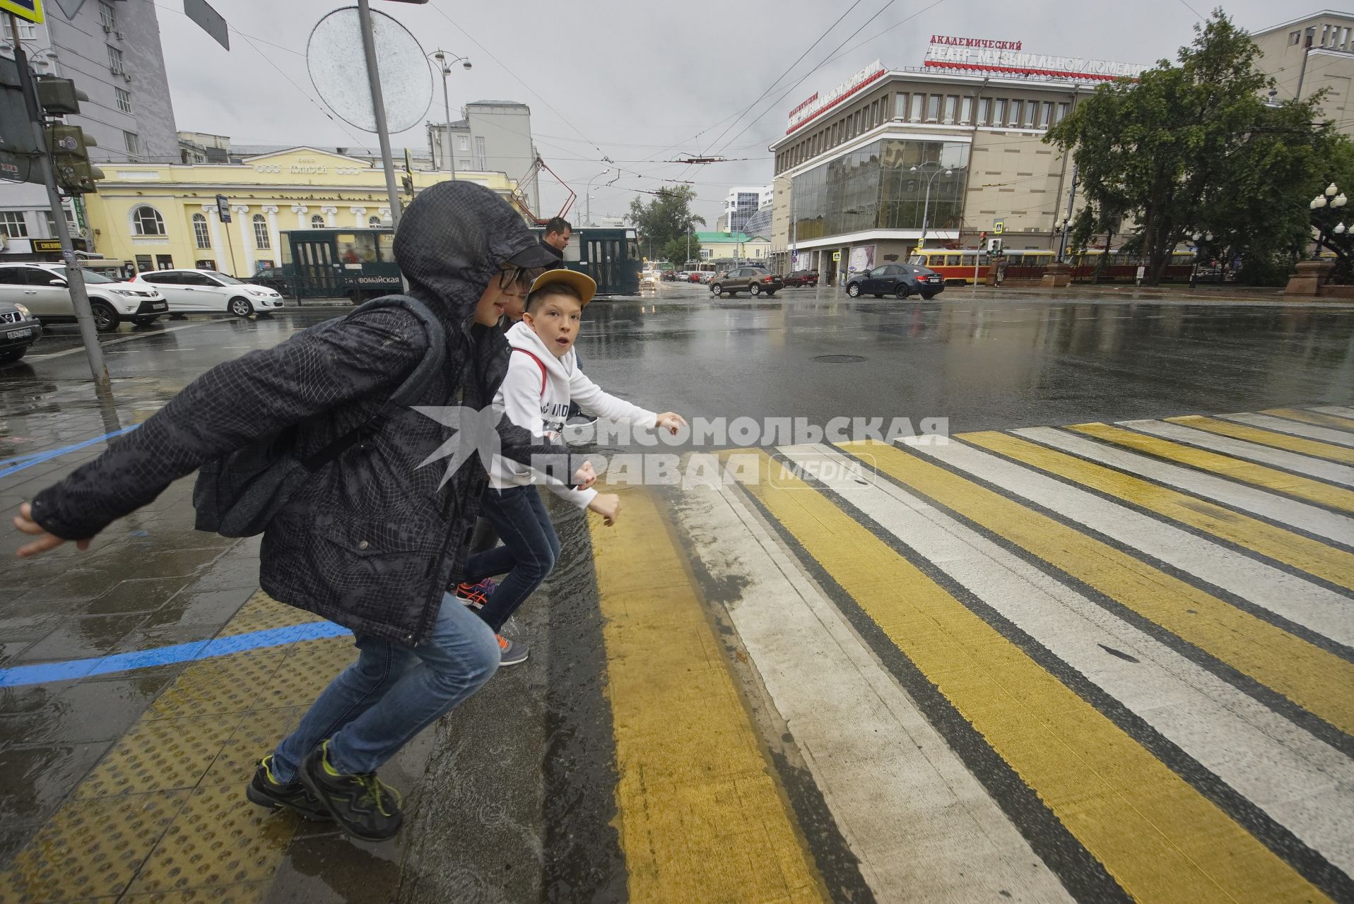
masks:
{"label": "hooded person in black patterned jacket and blue jeans, lunging forward", "polygon": [[[394,252],[409,294],[445,330],[445,367],[418,407],[487,407],[508,371],[509,346],[497,327],[505,291],[550,256],[506,203],[470,183],[421,192]],[[428,348],[413,313],[385,307],[211,368],[139,429],[24,503],[15,525],[37,539],[19,555],[66,540],[87,548],[172,480],[287,428],[297,428],[294,455],[313,455],[370,422]],[[563,447],[538,445],[506,418],[496,429],[506,457],[566,483],[594,479]],[[454,474],[441,460],[424,467],[448,433],[418,410],[389,418],[310,475],[264,530],[263,589],[352,628],[360,655],[261,761],[246,789],[255,803],[333,816],[362,839],[393,836],[399,797],[376,767],[497,669],[493,631],[444,593],[462,572],[487,483],[478,457]]]}

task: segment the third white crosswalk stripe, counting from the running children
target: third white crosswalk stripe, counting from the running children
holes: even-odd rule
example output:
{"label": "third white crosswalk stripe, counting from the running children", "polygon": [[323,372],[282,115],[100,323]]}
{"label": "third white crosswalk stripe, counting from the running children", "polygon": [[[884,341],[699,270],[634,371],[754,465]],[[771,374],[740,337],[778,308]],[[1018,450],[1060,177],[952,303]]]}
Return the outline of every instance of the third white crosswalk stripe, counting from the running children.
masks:
{"label": "third white crosswalk stripe, counting from the running children", "polygon": [[1354,600],[1174,524],[961,443],[909,447],[1056,512],[1336,643],[1354,647]]}

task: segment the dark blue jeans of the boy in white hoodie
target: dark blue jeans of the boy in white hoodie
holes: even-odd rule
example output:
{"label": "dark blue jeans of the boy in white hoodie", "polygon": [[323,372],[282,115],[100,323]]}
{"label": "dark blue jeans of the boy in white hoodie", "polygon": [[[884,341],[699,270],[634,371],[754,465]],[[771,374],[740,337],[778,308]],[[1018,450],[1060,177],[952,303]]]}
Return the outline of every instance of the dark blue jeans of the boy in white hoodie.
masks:
{"label": "dark blue jeans of the boy in white hoodie", "polygon": [[533,486],[489,487],[483,507],[483,516],[494,525],[504,545],[470,556],[462,581],[477,583],[494,575],[508,575],[479,610],[479,617],[500,631],[555,567],[559,537]]}

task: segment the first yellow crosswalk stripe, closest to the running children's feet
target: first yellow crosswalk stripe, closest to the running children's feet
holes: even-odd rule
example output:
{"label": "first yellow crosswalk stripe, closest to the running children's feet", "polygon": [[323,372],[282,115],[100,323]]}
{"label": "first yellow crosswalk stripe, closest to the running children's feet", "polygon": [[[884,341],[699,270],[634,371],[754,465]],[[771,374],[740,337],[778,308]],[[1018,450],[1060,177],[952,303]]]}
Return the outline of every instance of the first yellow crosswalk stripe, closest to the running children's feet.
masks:
{"label": "first yellow crosswalk stripe, closest to the running children's feet", "polygon": [[655,499],[589,518],[632,901],[821,901],[788,801]]}

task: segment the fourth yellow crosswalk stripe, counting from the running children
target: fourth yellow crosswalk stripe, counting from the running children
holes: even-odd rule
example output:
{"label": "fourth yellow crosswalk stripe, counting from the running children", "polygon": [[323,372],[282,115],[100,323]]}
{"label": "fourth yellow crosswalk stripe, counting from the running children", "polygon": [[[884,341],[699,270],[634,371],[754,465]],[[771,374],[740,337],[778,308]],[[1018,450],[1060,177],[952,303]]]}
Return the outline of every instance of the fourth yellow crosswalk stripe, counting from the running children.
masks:
{"label": "fourth yellow crosswalk stripe, counting from the running children", "polygon": [[1006,433],[995,430],[960,433],[959,438],[1016,461],[1034,466],[1048,474],[1075,480],[1117,499],[1132,502],[1150,512],[1269,556],[1275,562],[1290,564],[1317,578],[1354,590],[1354,553],[1334,549],[1311,537],[1275,528],[1259,518],[1232,512],[1225,506],[1187,493],[1129,476]]}

